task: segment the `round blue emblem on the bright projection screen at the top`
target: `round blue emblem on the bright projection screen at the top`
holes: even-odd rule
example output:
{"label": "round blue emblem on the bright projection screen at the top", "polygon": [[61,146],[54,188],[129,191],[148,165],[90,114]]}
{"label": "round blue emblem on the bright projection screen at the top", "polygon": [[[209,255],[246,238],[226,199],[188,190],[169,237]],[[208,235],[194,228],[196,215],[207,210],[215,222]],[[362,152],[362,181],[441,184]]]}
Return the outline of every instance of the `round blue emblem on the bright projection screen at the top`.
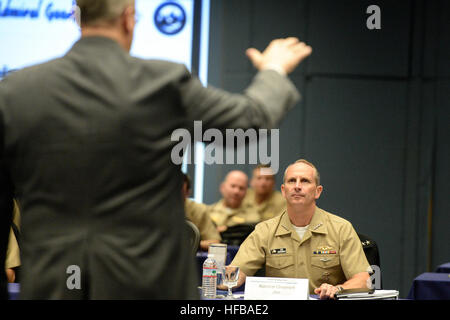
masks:
{"label": "round blue emblem on the bright projection screen at the top", "polygon": [[186,12],[178,3],[165,2],[156,9],[153,20],[160,32],[174,35],[183,30],[186,24]]}

